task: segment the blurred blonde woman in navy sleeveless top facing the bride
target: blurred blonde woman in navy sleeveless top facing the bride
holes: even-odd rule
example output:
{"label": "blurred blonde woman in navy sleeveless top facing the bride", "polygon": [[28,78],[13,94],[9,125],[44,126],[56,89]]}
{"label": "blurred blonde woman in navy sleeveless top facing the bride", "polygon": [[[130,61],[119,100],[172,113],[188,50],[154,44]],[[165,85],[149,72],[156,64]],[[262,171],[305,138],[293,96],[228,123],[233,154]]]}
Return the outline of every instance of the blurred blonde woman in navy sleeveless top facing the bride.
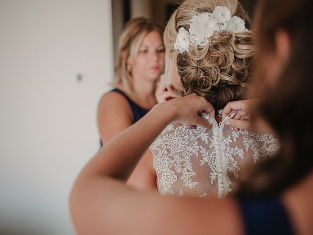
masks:
{"label": "blurred blonde woman in navy sleeveless top facing the bride", "polygon": [[98,106],[101,146],[156,105],[156,82],[164,70],[162,36],[163,29],[149,19],[126,24],[118,43],[114,89]]}

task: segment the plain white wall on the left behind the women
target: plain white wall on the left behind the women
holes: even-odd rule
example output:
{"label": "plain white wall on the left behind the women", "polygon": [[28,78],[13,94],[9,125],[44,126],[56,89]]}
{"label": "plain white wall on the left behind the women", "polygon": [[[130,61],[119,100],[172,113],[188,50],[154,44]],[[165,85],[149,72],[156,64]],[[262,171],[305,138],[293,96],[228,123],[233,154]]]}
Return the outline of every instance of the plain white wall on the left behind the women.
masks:
{"label": "plain white wall on the left behind the women", "polygon": [[0,0],[0,234],[75,234],[68,195],[99,148],[111,25],[111,0]]}

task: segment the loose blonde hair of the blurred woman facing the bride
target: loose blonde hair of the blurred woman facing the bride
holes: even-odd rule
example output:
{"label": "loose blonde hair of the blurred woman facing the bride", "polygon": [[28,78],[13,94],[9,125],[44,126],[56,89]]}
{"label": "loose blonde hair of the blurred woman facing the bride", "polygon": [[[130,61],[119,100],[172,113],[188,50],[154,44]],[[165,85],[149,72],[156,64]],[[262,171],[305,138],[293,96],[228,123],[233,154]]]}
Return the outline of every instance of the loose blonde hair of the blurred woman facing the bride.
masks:
{"label": "loose blonde hair of the blurred woman facing the bride", "polygon": [[152,20],[138,17],[129,21],[118,41],[115,65],[115,77],[112,86],[122,84],[126,91],[133,93],[133,78],[131,71],[127,70],[127,59],[136,61],[140,44],[144,37],[157,31],[163,37],[163,29]]}

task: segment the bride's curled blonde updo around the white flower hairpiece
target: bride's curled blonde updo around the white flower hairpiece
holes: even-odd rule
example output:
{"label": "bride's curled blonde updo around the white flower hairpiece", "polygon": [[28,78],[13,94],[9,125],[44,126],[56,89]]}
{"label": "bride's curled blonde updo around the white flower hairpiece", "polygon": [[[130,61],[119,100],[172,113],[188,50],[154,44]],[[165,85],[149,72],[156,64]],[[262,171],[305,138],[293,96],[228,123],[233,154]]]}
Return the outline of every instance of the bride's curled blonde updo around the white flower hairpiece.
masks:
{"label": "bride's curled blonde updo around the white flower hairpiece", "polygon": [[173,78],[177,64],[180,84],[186,95],[196,93],[210,101],[216,109],[233,100],[244,99],[253,68],[253,33],[245,31],[215,32],[204,47],[190,46],[179,53],[174,44],[179,28],[190,28],[190,20],[201,12],[212,13],[216,6],[225,6],[231,16],[240,17],[250,28],[247,12],[237,0],[185,0],[172,14],[164,32],[167,50],[165,73]]}

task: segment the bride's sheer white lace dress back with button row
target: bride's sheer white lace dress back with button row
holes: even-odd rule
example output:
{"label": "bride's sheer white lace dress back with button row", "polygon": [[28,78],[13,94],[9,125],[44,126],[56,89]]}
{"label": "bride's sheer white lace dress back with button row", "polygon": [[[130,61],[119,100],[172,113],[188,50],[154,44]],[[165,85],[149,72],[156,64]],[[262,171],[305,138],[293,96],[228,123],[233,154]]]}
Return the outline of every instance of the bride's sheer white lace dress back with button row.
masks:
{"label": "bride's sheer white lace dress back with button row", "polygon": [[279,150],[271,134],[236,132],[224,125],[232,116],[219,124],[209,116],[203,118],[213,124],[212,129],[187,129],[173,122],[150,146],[159,193],[222,197],[236,188],[240,168],[275,156]]}

